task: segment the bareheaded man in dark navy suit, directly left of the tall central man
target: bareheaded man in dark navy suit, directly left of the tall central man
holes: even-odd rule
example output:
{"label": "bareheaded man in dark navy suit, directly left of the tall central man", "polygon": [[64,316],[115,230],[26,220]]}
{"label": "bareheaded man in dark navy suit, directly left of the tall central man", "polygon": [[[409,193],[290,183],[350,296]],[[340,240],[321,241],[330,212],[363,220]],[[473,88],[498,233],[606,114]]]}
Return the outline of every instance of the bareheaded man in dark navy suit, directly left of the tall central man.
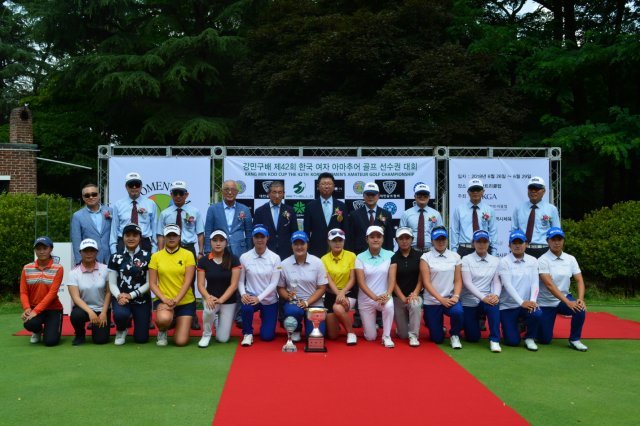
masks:
{"label": "bareheaded man in dark navy suit, directly left of the tall central man", "polygon": [[272,182],[269,186],[269,202],[258,207],[253,217],[254,223],[261,223],[269,231],[267,247],[281,260],[293,254],[291,234],[298,230],[296,214],[291,206],[282,202],[283,198],[284,184]]}

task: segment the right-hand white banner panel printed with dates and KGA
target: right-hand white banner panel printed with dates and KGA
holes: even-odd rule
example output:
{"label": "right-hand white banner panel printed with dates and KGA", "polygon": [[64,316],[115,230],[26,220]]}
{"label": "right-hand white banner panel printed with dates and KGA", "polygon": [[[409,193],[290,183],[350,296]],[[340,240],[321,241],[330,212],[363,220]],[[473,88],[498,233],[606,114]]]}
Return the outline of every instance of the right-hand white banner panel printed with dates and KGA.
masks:
{"label": "right-hand white banner panel printed with dates and KGA", "polygon": [[[456,207],[467,202],[467,183],[478,178],[484,183],[484,202],[495,210],[498,224],[498,256],[509,253],[511,215],[527,200],[527,183],[540,176],[549,184],[547,158],[452,158],[449,160],[450,218]],[[550,191],[545,194],[550,201]]]}

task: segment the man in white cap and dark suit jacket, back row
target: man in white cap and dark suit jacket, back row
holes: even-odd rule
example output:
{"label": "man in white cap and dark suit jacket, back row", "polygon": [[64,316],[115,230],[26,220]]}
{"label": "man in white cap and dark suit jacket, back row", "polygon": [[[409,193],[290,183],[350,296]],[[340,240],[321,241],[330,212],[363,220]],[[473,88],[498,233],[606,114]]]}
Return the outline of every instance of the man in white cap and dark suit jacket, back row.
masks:
{"label": "man in white cap and dark suit jacket, back row", "polygon": [[368,249],[366,233],[372,225],[384,229],[382,248],[393,251],[393,226],[391,213],[378,206],[380,189],[375,182],[367,182],[363,191],[364,206],[354,210],[349,215],[349,231],[347,232],[348,250],[360,254]]}

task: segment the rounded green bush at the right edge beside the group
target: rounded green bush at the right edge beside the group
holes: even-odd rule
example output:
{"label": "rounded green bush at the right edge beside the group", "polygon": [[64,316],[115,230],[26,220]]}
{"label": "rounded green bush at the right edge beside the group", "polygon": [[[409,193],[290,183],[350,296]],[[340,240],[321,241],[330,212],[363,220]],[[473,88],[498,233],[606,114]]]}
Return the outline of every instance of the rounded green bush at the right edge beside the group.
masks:
{"label": "rounded green bush at the right edge beside the group", "polygon": [[595,210],[584,219],[562,222],[566,251],[580,268],[608,285],[640,285],[640,201],[618,203]]}

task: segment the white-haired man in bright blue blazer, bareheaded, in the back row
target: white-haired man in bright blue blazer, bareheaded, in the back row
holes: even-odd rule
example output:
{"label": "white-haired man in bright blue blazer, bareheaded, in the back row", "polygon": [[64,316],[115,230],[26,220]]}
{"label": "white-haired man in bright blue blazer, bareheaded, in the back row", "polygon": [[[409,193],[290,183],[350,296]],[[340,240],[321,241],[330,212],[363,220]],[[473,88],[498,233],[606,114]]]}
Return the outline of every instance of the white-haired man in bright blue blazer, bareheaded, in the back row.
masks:
{"label": "white-haired man in bright blue blazer, bareheaded, in the back row", "polygon": [[205,253],[211,252],[209,235],[216,229],[222,229],[229,236],[229,249],[238,257],[253,247],[251,212],[249,207],[236,202],[237,196],[238,184],[234,180],[227,180],[222,184],[223,201],[209,206],[204,224]]}

